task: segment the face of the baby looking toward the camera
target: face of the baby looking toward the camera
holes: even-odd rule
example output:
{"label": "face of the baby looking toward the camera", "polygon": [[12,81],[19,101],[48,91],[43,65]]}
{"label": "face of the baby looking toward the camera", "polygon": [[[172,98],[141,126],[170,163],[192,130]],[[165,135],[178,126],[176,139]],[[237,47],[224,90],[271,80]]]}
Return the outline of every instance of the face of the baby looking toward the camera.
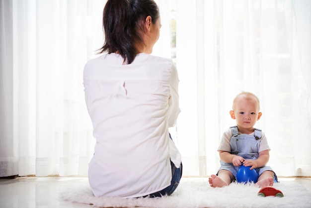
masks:
{"label": "face of the baby looking toward the camera", "polygon": [[238,128],[252,129],[260,118],[259,106],[251,97],[239,98],[233,105],[234,117]]}

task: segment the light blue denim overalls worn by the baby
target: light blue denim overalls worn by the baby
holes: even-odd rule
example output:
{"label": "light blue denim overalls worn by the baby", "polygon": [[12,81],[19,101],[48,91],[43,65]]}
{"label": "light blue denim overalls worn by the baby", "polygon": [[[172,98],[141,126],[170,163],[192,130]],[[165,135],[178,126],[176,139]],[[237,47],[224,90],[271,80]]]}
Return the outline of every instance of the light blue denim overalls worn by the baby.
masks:
{"label": "light blue denim overalls worn by the baby", "polygon": [[[237,126],[232,126],[231,132],[232,137],[230,140],[231,154],[243,157],[245,160],[256,160],[259,157],[259,146],[261,138],[261,130],[254,128],[254,135],[239,134]],[[233,176],[236,178],[237,170],[239,166],[234,166],[233,163],[225,163],[220,161],[220,170],[228,170],[232,172]],[[273,171],[269,166],[263,166],[260,168],[255,168],[258,176],[260,176],[264,171]],[[218,175],[218,172],[216,175]],[[274,171],[273,171],[274,172]],[[278,182],[278,178],[274,173],[274,182]]]}

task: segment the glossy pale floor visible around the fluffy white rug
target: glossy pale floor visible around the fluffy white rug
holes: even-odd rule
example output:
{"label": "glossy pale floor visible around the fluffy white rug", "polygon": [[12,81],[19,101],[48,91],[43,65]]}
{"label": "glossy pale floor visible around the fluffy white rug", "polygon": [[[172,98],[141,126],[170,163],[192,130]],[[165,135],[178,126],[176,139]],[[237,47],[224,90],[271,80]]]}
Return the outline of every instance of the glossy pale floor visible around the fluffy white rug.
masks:
{"label": "glossy pale floor visible around the fluffy white rug", "polygon": [[[92,208],[59,199],[60,192],[86,181],[87,178],[72,177],[0,179],[0,208]],[[279,178],[279,181],[301,184],[311,192],[310,178]]]}

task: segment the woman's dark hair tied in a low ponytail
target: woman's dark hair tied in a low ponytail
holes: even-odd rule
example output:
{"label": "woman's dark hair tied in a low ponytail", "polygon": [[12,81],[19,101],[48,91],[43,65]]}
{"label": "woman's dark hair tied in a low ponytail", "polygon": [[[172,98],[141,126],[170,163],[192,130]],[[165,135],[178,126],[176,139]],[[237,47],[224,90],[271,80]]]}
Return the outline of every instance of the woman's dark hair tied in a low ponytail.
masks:
{"label": "woman's dark hair tied in a low ponytail", "polygon": [[103,10],[105,43],[99,53],[118,52],[127,64],[136,55],[135,45],[144,44],[144,22],[151,16],[156,23],[159,10],[154,0],[108,0]]}

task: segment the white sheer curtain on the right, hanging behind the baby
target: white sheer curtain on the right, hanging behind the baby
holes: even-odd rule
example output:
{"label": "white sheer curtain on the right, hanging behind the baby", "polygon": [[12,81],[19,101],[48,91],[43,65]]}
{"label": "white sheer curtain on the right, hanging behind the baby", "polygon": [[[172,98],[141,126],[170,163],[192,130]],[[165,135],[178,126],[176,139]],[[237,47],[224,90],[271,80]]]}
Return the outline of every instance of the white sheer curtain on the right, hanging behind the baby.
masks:
{"label": "white sheer curtain on the right, hanging behind the baby", "polygon": [[[311,175],[311,1],[177,0],[185,175],[215,174],[236,94],[255,93],[280,176]],[[186,15],[185,15],[186,14]]]}

